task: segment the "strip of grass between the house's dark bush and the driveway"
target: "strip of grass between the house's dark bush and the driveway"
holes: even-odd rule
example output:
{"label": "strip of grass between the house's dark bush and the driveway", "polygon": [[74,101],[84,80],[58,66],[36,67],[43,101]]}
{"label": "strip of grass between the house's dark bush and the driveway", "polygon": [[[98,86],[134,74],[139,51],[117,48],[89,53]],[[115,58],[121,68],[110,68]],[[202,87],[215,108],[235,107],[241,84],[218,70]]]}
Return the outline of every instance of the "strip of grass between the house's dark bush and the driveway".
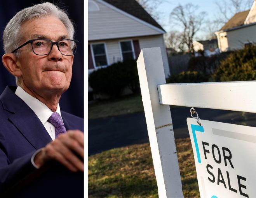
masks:
{"label": "strip of grass between the house's dark bush and the driveway", "polygon": [[104,118],[127,113],[142,112],[141,94],[124,96],[117,100],[102,100],[88,105],[88,118]]}

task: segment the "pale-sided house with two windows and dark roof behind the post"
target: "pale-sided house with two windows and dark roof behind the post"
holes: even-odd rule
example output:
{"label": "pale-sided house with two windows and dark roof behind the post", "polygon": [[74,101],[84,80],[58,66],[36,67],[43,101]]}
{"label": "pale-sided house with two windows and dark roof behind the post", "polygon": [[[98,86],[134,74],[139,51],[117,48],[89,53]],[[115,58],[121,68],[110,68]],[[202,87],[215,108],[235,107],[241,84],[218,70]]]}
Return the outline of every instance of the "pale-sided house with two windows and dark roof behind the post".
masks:
{"label": "pale-sided house with two windows and dark roof behind the post", "polygon": [[170,71],[164,33],[135,0],[89,0],[88,73],[118,61],[137,59],[143,48],[160,47],[167,77]]}

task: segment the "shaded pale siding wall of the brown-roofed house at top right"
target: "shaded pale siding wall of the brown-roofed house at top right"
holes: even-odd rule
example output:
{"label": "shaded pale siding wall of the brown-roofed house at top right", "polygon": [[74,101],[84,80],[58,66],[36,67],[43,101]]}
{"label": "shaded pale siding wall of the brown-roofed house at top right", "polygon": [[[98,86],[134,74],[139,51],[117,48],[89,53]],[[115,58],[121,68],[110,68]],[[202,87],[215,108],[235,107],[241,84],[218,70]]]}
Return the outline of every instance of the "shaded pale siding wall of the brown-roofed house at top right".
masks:
{"label": "shaded pale siding wall of the brown-roofed house at top right", "polygon": [[230,50],[242,49],[244,43],[256,42],[256,24],[227,32]]}

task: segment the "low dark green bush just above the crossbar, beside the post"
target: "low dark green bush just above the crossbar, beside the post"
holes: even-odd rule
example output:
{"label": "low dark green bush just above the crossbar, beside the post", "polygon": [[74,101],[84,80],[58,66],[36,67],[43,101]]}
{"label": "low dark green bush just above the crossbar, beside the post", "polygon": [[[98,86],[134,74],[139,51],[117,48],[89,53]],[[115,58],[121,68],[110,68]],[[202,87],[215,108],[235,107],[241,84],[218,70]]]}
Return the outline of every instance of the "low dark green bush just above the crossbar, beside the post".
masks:
{"label": "low dark green bush just above the crossbar, beside the post", "polygon": [[198,71],[183,71],[178,75],[171,75],[166,79],[166,83],[196,83],[208,82],[209,75],[201,74]]}

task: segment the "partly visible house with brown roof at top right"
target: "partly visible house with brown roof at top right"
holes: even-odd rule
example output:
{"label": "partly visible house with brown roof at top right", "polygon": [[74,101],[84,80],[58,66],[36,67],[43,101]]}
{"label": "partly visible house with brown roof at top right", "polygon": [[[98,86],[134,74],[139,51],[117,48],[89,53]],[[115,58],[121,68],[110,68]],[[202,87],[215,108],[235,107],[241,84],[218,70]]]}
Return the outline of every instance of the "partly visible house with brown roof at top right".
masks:
{"label": "partly visible house with brown roof at top right", "polygon": [[215,34],[220,52],[242,49],[256,42],[256,0],[250,10],[236,13]]}

